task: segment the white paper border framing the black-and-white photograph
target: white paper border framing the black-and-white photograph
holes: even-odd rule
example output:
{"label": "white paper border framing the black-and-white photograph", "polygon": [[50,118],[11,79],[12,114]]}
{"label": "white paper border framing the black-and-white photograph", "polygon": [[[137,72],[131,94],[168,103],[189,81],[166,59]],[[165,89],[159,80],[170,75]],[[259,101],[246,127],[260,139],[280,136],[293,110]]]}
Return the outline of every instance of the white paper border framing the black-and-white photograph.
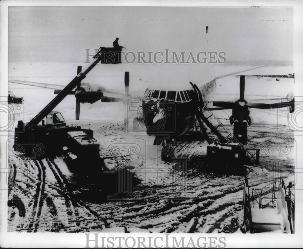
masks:
{"label": "white paper border framing the black-and-white photograph", "polygon": [[[192,6],[192,7],[239,7],[239,6],[251,6],[259,5],[262,7],[278,7],[278,6],[292,6],[294,7],[294,71],[296,82],[303,82],[302,61],[303,58],[303,46],[301,41],[303,40],[303,3],[299,1],[2,1],[1,2],[1,46],[0,46],[0,96],[5,96],[8,92],[8,8],[9,6]],[[296,95],[302,95],[302,85],[295,85]],[[287,90],[287,89],[286,89]],[[285,91],[287,92],[287,91]],[[301,93],[301,94],[300,94]],[[1,124],[7,120],[7,115],[1,113]],[[1,125],[2,126],[2,125]],[[297,151],[302,151],[303,137],[295,137],[297,142]],[[7,164],[7,151],[6,151],[7,136],[1,134],[1,165]],[[302,153],[298,153],[297,168],[302,168],[303,156]],[[302,179],[303,172],[297,172],[297,183],[303,185]],[[1,178],[4,174],[1,174]],[[0,188],[5,181],[1,181]],[[297,186],[298,189],[303,189],[302,186]],[[226,237],[226,247],[301,247],[301,234],[303,227],[301,221],[303,221],[303,213],[301,212],[303,206],[303,191],[295,191],[296,196],[296,210],[295,210],[295,234],[175,234],[176,237],[188,237],[198,238],[200,236],[205,237]],[[1,225],[0,225],[0,243],[2,247],[85,247],[86,235],[85,233],[19,233],[19,232],[7,232],[8,220],[7,220],[7,190],[1,191]],[[93,234],[93,233],[91,233]],[[129,235],[129,234],[128,234]],[[141,237],[165,237],[165,234],[136,234],[133,236]],[[101,236],[101,234],[100,234]],[[104,237],[112,236],[112,234],[102,234]],[[127,237],[124,233],[116,233],[115,237]],[[171,242],[171,241],[170,241]],[[157,242],[161,244],[161,240]],[[117,245],[117,244],[116,244]],[[163,244],[163,248],[165,248]],[[168,246],[171,246],[169,243]],[[93,246],[91,246],[93,247]],[[167,247],[166,247],[167,248]]]}

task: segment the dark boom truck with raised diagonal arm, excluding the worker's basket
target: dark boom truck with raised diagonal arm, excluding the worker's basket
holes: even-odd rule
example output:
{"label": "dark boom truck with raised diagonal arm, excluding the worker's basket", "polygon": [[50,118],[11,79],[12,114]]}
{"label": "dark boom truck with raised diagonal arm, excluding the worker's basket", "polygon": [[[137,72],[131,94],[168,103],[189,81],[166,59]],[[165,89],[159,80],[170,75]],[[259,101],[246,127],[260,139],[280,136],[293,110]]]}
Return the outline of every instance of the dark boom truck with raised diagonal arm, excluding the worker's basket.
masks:
{"label": "dark boom truck with raised diagonal arm, excluding the worker's basket", "polygon": [[[100,49],[102,51],[102,48]],[[65,152],[72,153],[74,156],[90,154],[91,159],[100,158],[99,143],[93,138],[93,131],[82,129],[80,126],[66,125],[60,112],[53,111],[74,88],[80,88],[81,81],[102,60],[102,55],[99,54],[100,49],[85,69],[82,70],[82,67],[78,66],[75,78],[34,118],[26,124],[18,121],[13,145],[15,151],[23,152],[28,156],[45,157],[62,152],[64,149]],[[39,124],[41,121],[42,124]]]}

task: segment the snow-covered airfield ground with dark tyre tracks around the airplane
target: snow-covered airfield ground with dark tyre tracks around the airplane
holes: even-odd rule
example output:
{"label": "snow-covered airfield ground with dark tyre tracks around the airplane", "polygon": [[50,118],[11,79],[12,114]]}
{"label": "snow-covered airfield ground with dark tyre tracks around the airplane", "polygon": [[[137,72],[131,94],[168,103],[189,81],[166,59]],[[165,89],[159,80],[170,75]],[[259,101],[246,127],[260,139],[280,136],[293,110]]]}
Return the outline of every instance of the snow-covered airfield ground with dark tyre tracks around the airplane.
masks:
{"label": "snow-covered airfield ground with dark tyre tracks around the airplane", "polygon": [[[66,85],[75,77],[77,65],[11,63],[9,77]],[[175,65],[174,68],[183,72],[182,66]],[[210,72],[218,76],[243,68],[249,67],[220,65]],[[124,71],[130,71],[130,95],[136,96],[161,78],[158,74],[161,70],[164,70],[162,65],[98,65],[83,82],[124,90]],[[293,73],[292,67],[264,67],[242,74],[290,73]],[[200,86],[200,82],[191,79],[191,74],[185,76],[188,80],[184,84],[192,81]],[[201,83],[206,82],[201,80]],[[15,111],[14,127],[20,117],[28,122],[55,97],[51,89],[13,83],[9,88],[17,97],[24,98],[21,110]],[[246,79],[245,97],[285,98],[293,88],[292,78],[281,78],[280,81],[275,78]],[[221,78],[217,80],[213,100],[232,101],[238,93],[239,78]],[[243,221],[244,176],[233,171],[222,173],[204,165],[208,144],[199,130],[194,128],[176,141],[176,153],[187,155],[186,167],[180,170],[161,160],[161,147],[153,145],[154,138],[147,136],[144,129],[138,131],[133,127],[132,117],[128,120],[129,132],[125,132],[125,105],[122,102],[81,104],[79,121],[75,120],[75,102],[75,97],[68,95],[55,110],[61,112],[68,125],[77,124],[94,131],[94,138],[100,142],[100,156],[106,158],[107,168],[114,173],[94,174],[94,167],[98,165],[83,165],[80,172],[75,172],[62,157],[24,163],[26,159],[12,151],[13,139],[9,139],[8,162],[12,173],[8,179],[11,189],[8,199],[12,201],[8,208],[8,231],[92,232],[123,226],[151,232],[233,233],[238,230]],[[228,120],[231,111],[214,111],[214,114],[232,132]],[[246,148],[261,149],[260,164],[245,165],[251,188],[261,189],[268,178],[279,176],[286,184],[294,181],[295,141],[288,128],[287,108],[251,109],[251,117]],[[281,162],[280,173],[268,170],[268,162],[272,160]],[[123,185],[126,191],[116,193],[121,187],[121,181],[117,180],[121,175],[115,168],[125,161],[131,166],[132,174],[126,177],[132,188]],[[109,199],[108,195],[111,195]]]}

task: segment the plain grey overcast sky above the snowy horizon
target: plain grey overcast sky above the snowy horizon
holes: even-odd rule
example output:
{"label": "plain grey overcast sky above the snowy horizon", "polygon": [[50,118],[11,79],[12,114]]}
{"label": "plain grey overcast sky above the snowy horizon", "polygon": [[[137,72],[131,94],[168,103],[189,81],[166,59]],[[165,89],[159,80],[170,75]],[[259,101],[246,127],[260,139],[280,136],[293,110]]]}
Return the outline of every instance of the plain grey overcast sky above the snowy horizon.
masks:
{"label": "plain grey overcast sky above the snowy horizon", "polygon": [[[292,61],[292,8],[9,7],[9,61],[85,61],[84,48]],[[205,27],[208,26],[208,34]],[[92,51],[93,53],[93,51]]]}

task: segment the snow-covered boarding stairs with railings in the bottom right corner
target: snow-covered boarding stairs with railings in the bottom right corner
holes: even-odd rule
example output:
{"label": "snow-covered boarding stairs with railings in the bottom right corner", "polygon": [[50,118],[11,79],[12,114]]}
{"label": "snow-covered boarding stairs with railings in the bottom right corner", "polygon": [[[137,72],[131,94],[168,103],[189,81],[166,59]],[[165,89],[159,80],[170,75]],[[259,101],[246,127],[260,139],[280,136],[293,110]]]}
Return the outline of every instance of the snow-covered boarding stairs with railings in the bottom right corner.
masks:
{"label": "snow-covered boarding stairs with railings in the bottom right corner", "polygon": [[[287,193],[288,188],[288,193]],[[261,191],[252,189],[249,195],[245,176],[243,233],[294,233],[295,199],[292,186],[285,187],[283,179],[269,182]]]}

